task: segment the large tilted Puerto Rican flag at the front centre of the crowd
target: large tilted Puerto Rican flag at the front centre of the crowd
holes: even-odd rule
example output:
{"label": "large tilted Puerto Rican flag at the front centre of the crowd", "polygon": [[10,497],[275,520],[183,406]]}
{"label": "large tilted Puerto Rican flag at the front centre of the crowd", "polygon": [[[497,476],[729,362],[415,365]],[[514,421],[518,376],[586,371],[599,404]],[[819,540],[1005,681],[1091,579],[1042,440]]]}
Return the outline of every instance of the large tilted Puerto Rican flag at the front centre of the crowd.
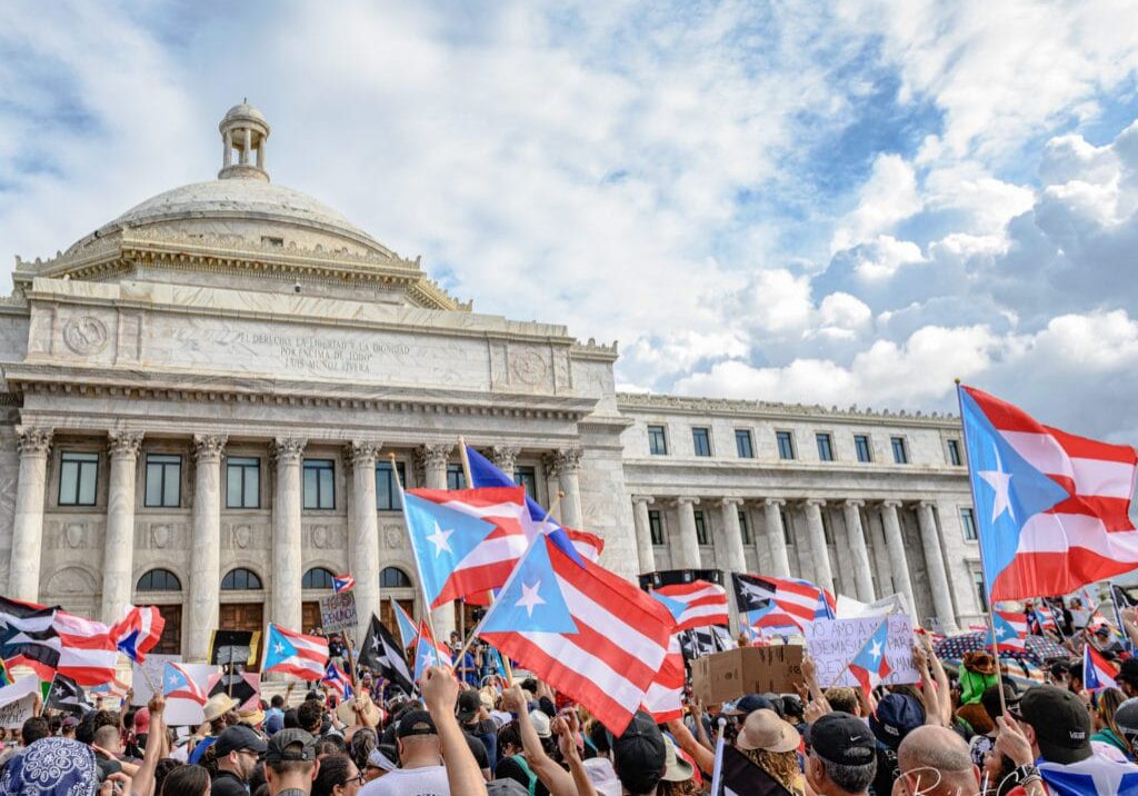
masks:
{"label": "large tilted Puerto Rican flag at the front centre of the crowd", "polygon": [[542,535],[478,634],[617,736],[663,666],[674,625],[668,609],[648,593],[599,564],[574,561]]}

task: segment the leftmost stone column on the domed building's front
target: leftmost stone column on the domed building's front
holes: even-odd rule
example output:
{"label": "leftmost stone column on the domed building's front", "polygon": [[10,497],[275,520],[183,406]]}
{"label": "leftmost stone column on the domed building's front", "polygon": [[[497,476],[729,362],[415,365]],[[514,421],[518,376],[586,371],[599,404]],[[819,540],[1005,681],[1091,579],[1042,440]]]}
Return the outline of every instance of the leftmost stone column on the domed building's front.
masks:
{"label": "leftmost stone column on the domed building's front", "polygon": [[11,525],[9,597],[35,602],[40,599],[40,555],[43,550],[43,490],[48,478],[51,429],[17,426],[19,481]]}

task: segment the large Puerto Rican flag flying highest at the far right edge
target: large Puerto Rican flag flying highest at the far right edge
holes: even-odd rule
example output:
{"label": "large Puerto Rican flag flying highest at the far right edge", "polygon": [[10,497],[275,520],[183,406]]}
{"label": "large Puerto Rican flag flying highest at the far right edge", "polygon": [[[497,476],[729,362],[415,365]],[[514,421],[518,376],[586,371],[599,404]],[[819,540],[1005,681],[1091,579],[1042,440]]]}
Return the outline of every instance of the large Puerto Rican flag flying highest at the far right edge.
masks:
{"label": "large Puerto Rican flag flying highest at the far right edge", "polygon": [[1138,454],[1044,426],[959,388],[976,526],[992,600],[1066,594],[1138,567]]}

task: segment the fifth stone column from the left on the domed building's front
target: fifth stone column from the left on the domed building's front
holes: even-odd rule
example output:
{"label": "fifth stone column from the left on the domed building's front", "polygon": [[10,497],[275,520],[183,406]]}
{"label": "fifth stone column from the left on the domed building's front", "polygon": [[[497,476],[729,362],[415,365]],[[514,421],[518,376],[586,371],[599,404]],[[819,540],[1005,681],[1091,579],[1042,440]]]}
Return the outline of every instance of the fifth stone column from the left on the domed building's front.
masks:
{"label": "fifth stone column from the left on the domed building's front", "polygon": [[360,626],[355,641],[368,632],[371,614],[379,616],[379,517],[376,504],[376,457],[382,445],[368,440],[353,440],[345,446],[344,460],[352,468],[352,507],[348,542],[348,567],[355,578],[356,609]]}

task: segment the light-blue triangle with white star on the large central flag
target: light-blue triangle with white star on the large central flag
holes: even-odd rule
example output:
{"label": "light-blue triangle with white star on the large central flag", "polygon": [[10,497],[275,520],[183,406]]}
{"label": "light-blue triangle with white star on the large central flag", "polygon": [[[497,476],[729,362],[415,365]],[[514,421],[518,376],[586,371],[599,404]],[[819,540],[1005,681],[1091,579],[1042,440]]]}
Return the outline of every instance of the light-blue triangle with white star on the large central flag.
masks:
{"label": "light-blue triangle with white star on the large central flag", "polygon": [[550,561],[550,543],[539,536],[530,545],[483,621],[483,632],[578,632]]}

